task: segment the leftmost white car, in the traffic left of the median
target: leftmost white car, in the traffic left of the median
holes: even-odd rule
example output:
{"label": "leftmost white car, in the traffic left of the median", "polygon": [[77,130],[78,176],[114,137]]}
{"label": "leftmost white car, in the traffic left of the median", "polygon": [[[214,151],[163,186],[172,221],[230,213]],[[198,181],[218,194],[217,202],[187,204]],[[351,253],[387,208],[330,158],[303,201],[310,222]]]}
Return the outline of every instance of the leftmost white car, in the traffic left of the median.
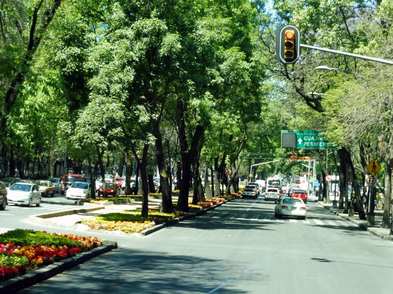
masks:
{"label": "leftmost white car, in the traffic left of the median", "polygon": [[27,205],[31,207],[41,205],[41,192],[37,184],[16,182],[8,188],[8,203]]}

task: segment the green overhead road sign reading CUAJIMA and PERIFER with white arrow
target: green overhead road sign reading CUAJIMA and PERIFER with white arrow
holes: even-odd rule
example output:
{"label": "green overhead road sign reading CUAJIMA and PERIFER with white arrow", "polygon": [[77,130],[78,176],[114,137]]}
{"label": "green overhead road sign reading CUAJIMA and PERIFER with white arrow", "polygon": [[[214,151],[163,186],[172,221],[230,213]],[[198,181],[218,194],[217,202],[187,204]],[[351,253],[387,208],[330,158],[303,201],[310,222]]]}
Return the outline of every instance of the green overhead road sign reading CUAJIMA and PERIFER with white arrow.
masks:
{"label": "green overhead road sign reading CUAJIMA and PERIFER with white arrow", "polygon": [[319,131],[281,131],[281,147],[297,149],[337,149]]}

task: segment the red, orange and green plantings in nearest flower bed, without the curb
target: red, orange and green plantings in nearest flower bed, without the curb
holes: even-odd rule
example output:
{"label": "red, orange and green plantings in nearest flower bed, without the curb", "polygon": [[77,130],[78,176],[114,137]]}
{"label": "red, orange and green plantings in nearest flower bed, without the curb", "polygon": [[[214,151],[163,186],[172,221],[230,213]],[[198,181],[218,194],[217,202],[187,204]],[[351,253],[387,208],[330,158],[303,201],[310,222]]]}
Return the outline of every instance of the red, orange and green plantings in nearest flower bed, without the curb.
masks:
{"label": "red, orange and green plantings in nearest flower bed, without the curb", "polygon": [[0,234],[0,282],[102,245],[98,238],[15,229]]}

